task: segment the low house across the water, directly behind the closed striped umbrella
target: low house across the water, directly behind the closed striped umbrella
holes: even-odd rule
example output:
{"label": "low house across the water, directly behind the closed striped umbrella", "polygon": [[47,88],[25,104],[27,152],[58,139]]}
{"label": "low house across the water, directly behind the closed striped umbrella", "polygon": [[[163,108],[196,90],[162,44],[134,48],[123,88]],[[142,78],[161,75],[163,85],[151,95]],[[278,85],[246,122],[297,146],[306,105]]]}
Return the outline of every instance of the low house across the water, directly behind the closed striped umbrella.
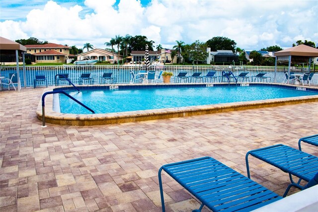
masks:
{"label": "low house across the water, directly behind the closed striped umbrella", "polygon": [[[149,51],[149,60],[155,62],[158,60],[160,63],[171,62],[171,49],[160,49],[159,51]],[[178,54],[178,53],[177,53]],[[173,58],[172,63],[177,63],[177,54]],[[145,59],[145,51],[132,51],[132,62],[142,62]]]}

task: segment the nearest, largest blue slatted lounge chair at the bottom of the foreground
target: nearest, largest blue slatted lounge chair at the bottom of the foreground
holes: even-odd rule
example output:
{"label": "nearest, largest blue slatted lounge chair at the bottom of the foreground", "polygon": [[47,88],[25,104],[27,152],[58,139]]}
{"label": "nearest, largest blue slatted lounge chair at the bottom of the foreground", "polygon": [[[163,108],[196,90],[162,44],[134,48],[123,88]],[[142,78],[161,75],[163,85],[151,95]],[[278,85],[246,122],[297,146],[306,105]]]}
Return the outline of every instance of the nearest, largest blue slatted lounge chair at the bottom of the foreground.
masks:
{"label": "nearest, largest blue slatted lounge chair at the bottom of the foreground", "polygon": [[200,212],[204,206],[214,212],[252,211],[282,199],[223,163],[203,157],[161,166],[158,176],[162,212],[162,170],[202,203],[193,212]]}

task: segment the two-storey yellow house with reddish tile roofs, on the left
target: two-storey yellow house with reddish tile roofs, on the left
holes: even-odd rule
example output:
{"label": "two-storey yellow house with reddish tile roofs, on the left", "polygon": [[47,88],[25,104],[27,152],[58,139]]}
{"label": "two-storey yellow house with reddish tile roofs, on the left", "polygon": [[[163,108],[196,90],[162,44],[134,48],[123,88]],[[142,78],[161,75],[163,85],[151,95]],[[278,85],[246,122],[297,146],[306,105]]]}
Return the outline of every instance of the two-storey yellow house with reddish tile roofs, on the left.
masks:
{"label": "two-storey yellow house with reddish tile roofs, on the left", "polygon": [[56,43],[41,45],[25,45],[26,58],[30,58],[35,63],[66,63],[70,58],[69,46]]}

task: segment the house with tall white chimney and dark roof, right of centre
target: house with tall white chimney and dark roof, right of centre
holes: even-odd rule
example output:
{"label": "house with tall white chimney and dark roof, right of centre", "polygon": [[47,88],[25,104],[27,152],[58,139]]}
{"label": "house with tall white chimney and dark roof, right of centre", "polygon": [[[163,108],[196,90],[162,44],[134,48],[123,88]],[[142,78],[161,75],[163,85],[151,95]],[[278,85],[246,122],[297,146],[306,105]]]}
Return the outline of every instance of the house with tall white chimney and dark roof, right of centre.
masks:
{"label": "house with tall white chimney and dark roof, right of centre", "polygon": [[211,48],[207,48],[207,53],[207,64],[239,62],[239,56],[234,54],[232,50],[217,50],[216,52],[211,52]]}

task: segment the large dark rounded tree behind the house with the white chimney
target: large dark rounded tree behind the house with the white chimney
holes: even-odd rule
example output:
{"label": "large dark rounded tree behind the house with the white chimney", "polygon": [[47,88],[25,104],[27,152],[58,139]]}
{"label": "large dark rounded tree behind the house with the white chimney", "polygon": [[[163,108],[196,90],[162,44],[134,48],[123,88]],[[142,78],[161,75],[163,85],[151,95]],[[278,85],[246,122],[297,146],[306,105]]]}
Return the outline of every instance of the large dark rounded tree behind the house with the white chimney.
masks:
{"label": "large dark rounded tree behind the house with the white chimney", "polygon": [[235,53],[237,43],[227,37],[213,37],[206,42],[207,47],[211,48],[211,51],[217,50],[232,50]]}

